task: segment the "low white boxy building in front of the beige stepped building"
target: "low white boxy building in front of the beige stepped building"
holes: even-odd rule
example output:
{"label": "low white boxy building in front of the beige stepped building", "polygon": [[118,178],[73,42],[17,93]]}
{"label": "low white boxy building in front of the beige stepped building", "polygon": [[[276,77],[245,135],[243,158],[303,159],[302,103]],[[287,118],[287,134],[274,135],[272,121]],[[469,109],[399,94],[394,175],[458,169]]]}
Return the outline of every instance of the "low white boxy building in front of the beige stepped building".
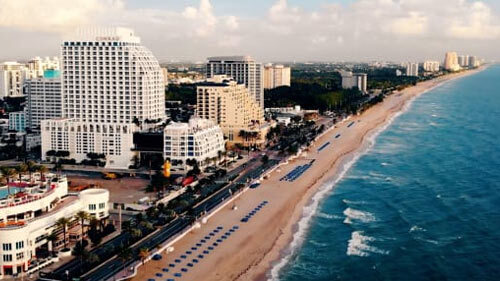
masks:
{"label": "low white boxy building in front of the beige stepped building", "polygon": [[198,163],[225,151],[224,134],[211,120],[192,118],[189,123],[172,123],[164,129],[164,157],[173,163],[195,159]]}

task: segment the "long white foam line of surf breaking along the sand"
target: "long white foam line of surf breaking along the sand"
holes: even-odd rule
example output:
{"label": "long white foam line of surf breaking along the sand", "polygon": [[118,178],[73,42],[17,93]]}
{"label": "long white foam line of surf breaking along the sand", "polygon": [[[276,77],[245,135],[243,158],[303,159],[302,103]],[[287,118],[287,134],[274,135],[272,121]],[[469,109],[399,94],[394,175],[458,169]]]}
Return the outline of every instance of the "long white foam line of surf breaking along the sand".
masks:
{"label": "long white foam line of surf breaking along the sand", "polygon": [[296,255],[297,249],[302,245],[304,238],[306,237],[307,230],[310,227],[311,218],[317,212],[319,203],[323,200],[323,198],[326,197],[330,193],[330,191],[335,187],[335,185],[344,178],[349,169],[358,161],[358,159],[373,148],[373,146],[376,143],[377,137],[387,128],[389,128],[394,122],[394,120],[396,120],[399,116],[401,116],[411,108],[415,99],[416,97],[409,99],[399,112],[396,112],[394,115],[390,117],[390,119],[384,125],[382,125],[380,128],[376,129],[373,133],[368,135],[366,139],[367,145],[362,147],[360,152],[355,153],[354,156],[349,161],[344,163],[342,169],[336,175],[336,177],[321,185],[321,187],[318,189],[318,192],[316,192],[316,194],[313,196],[311,203],[308,206],[304,207],[304,210],[302,212],[302,218],[297,223],[298,225],[297,231],[293,234],[292,242],[284,250],[283,257],[277,262],[275,262],[271,270],[268,272],[267,277],[269,281],[279,280],[279,274],[281,269],[283,269],[292,259],[292,257]]}

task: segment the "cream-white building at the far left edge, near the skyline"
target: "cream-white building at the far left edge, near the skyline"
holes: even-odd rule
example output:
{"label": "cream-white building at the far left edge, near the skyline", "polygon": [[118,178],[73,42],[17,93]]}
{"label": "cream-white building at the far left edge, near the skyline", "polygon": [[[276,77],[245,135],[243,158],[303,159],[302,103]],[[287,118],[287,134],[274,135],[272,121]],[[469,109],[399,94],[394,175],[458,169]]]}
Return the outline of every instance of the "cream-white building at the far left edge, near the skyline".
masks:
{"label": "cream-white building at the far left edge, near the skyline", "polygon": [[22,97],[26,67],[17,62],[0,64],[0,98]]}

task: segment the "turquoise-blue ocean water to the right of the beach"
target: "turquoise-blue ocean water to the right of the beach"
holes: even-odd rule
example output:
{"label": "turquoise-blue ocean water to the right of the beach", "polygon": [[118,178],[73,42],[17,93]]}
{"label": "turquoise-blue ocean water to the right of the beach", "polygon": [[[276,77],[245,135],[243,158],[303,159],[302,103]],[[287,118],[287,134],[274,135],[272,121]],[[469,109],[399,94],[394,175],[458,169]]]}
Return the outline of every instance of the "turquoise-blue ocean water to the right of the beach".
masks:
{"label": "turquoise-blue ocean water to the right of the beach", "polygon": [[416,99],[272,279],[500,280],[499,89],[491,66]]}

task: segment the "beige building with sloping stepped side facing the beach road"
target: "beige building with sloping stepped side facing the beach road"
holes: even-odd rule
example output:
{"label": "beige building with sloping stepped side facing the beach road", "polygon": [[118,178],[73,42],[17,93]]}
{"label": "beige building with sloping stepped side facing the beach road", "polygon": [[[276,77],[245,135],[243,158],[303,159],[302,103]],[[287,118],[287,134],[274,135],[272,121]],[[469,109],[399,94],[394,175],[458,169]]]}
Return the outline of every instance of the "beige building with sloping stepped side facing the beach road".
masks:
{"label": "beige building with sloping stepped side facing the beach road", "polygon": [[[229,145],[262,144],[267,125],[264,112],[244,84],[226,75],[216,75],[197,87],[197,115],[219,124]],[[246,140],[240,132],[254,132],[258,137]],[[251,142],[251,143],[250,143]]]}

